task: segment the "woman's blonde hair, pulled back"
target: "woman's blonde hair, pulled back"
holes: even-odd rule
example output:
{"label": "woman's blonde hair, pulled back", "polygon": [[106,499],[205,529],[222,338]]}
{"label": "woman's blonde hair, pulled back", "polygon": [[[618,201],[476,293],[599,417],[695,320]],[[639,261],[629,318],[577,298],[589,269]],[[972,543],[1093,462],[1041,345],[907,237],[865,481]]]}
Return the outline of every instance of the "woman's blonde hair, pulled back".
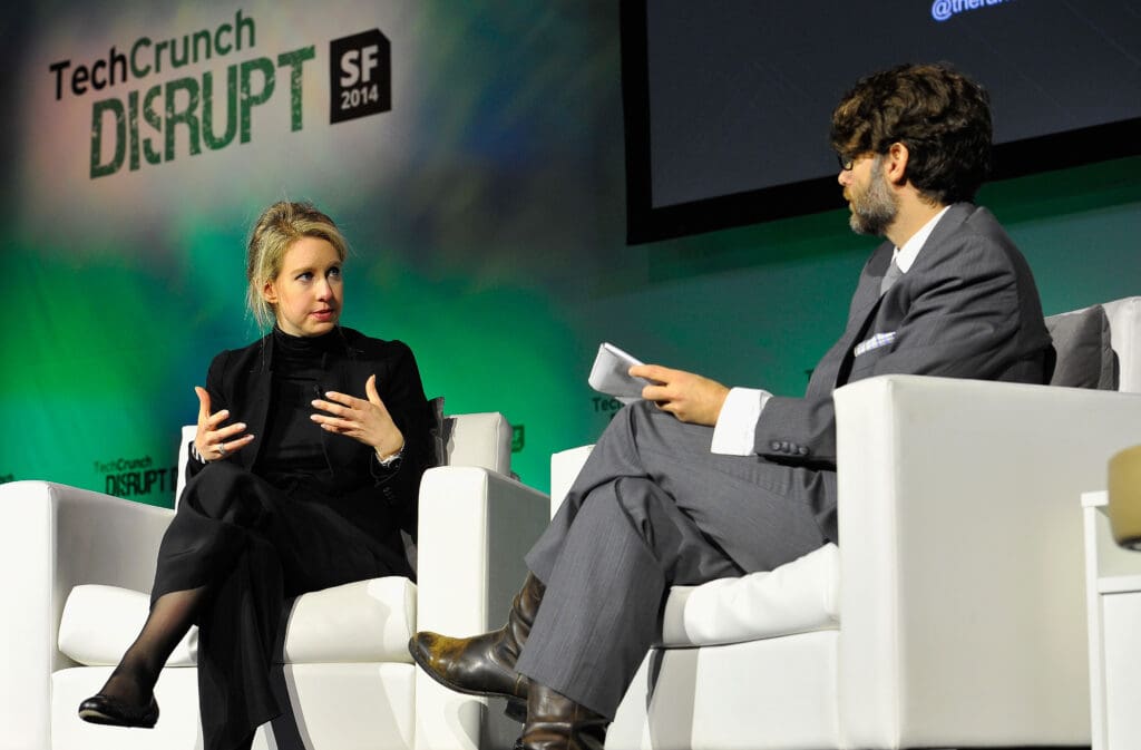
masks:
{"label": "woman's blonde hair, pulled back", "polygon": [[245,255],[245,304],[262,329],[276,321],[276,312],[261,296],[265,285],[281,273],[285,253],[301,237],[325,240],[337,249],[341,263],[348,255],[348,243],[331,218],[311,203],[278,201],[258,217],[250,233]]}

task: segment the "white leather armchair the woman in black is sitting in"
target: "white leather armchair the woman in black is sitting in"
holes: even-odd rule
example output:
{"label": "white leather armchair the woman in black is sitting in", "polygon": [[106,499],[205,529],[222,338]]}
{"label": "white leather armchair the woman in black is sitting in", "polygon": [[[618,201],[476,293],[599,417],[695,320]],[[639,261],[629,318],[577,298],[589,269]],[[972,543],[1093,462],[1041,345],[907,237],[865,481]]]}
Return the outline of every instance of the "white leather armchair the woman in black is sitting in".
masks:
{"label": "white leather armchair the woman in black is sitting in", "polygon": [[[510,477],[502,416],[447,420],[448,466],[421,484],[418,584],[383,578],[299,597],[281,685],[293,716],[261,727],[254,748],[469,750],[513,741],[517,724],[418,674],[407,653],[418,628],[497,627],[526,575],[523,555],[547,523],[547,497]],[[0,589],[9,603],[0,618],[0,750],[202,747],[193,630],[159,679],[154,729],[75,716],[141,627],[172,514],[49,482],[0,485]]]}

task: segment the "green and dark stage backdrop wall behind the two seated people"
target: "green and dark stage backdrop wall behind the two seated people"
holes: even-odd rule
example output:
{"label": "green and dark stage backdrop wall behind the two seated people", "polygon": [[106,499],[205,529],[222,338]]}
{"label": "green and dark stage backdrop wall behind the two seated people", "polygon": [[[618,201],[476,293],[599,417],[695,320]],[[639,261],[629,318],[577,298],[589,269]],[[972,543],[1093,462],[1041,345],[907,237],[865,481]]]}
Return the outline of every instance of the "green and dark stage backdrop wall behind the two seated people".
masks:
{"label": "green and dark stage backdrop wall behind the two seated people", "polygon": [[[412,346],[448,412],[503,412],[540,489],[616,409],[585,382],[602,340],[799,393],[874,241],[837,208],[628,245],[616,6],[0,11],[0,481],[172,505],[193,386],[260,334],[244,241],[281,199],[348,236],[343,323]],[[1139,176],[985,188],[1047,313],[1141,292]]]}

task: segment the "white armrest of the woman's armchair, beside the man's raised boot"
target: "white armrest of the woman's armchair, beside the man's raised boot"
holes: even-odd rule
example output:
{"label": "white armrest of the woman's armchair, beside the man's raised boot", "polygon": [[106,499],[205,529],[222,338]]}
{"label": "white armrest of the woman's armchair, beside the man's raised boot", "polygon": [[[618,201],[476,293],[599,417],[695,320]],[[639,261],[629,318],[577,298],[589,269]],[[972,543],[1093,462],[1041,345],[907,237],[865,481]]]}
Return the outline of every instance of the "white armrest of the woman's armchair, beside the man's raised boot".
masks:
{"label": "white armrest of the woman's armchair, beside the man's raised boot", "polygon": [[[469,636],[502,624],[527,574],[523,556],[547,527],[549,508],[542,492],[484,468],[426,471],[420,483],[416,629]],[[486,747],[482,732],[486,739],[518,731],[518,725],[488,715],[485,700],[453,693],[419,670],[415,717],[418,750]],[[512,740],[503,735],[495,744]]]}

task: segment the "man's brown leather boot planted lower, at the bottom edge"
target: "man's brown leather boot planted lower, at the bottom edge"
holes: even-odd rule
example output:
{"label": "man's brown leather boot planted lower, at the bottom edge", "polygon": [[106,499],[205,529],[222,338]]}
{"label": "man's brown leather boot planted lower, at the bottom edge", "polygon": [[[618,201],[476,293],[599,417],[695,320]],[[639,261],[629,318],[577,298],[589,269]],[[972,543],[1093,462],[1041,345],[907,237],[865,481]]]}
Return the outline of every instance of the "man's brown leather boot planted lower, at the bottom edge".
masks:
{"label": "man's brown leather boot planted lower, at the bottom edge", "polygon": [[527,723],[515,750],[602,750],[609,724],[601,713],[532,682]]}

